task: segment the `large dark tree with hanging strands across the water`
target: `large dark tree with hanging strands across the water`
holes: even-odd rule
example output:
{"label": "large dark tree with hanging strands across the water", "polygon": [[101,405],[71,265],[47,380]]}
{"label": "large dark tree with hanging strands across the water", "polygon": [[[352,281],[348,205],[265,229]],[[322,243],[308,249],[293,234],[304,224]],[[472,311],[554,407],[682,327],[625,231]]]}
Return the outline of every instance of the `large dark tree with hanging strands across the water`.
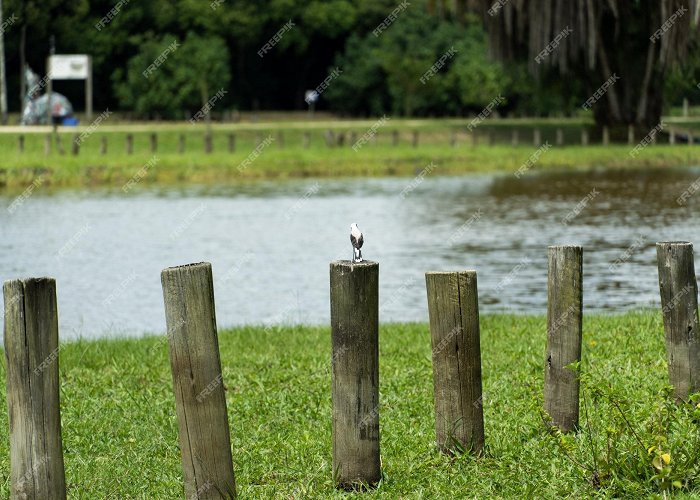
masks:
{"label": "large dark tree with hanging strands across the water", "polygon": [[665,79],[686,56],[700,14],[698,0],[480,0],[478,8],[498,58],[528,61],[533,75],[555,67],[589,96],[617,76],[593,104],[594,118],[643,128],[659,123]]}

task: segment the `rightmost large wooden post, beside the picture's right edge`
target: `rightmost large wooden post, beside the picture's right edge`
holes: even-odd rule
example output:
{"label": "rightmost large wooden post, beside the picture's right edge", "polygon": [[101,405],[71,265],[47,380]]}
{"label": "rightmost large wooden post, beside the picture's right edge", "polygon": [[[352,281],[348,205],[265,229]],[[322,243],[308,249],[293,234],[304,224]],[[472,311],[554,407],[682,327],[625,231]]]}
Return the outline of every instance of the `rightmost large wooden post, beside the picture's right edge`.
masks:
{"label": "rightmost large wooden post, beside the picture's right edge", "polygon": [[693,245],[686,241],[656,244],[659,289],[666,333],[668,378],[676,400],[700,391],[698,286]]}

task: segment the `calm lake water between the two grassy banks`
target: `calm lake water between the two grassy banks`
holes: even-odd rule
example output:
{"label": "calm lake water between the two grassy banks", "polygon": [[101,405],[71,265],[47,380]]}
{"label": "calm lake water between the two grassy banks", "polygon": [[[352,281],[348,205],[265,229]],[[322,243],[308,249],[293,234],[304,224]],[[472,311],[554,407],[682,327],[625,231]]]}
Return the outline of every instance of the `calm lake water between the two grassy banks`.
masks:
{"label": "calm lake water between the two grassy banks", "polygon": [[[658,306],[655,242],[700,242],[698,169],[303,179],[0,195],[0,279],[57,280],[61,338],[165,331],[160,271],[209,261],[220,327],[327,324],[349,226],[380,320],[427,321],[425,271],[476,269],[482,312],[543,313],[547,246],[584,247],[586,311]],[[403,194],[402,194],[403,193]],[[16,206],[16,205],[15,205]],[[611,266],[612,265],[612,266]],[[1,317],[1,314],[0,314]]]}

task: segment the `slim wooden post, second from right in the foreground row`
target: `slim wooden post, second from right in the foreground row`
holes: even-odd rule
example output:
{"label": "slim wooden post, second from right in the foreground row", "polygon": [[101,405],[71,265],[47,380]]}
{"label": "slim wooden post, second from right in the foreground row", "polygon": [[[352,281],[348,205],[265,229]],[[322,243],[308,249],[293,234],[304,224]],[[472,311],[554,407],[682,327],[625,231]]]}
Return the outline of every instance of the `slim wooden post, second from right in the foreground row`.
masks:
{"label": "slim wooden post, second from right in the foreground row", "polygon": [[580,246],[549,247],[544,409],[564,432],[578,426],[578,370],[569,365],[581,361],[582,262]]}

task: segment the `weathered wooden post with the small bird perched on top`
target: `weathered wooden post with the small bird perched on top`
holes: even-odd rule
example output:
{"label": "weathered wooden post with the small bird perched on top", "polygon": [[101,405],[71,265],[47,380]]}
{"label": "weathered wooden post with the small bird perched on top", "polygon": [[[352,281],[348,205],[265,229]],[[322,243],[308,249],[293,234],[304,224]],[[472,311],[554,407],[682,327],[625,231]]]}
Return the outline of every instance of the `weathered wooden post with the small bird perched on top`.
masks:
{"label": "weathered wooden post with the small bird perched on top", "polygon": [[330,264],[333,479],[375,484],[379,462],[379,264]]}

